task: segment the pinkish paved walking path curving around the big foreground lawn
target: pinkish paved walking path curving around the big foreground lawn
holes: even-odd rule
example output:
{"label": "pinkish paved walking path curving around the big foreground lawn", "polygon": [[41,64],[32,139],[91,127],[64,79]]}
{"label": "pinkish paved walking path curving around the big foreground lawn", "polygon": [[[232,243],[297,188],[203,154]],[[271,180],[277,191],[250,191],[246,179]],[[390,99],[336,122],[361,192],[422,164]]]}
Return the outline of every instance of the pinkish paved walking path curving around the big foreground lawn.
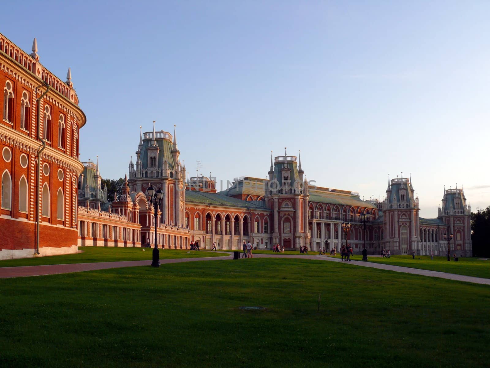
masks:
{"label": "pinkish paved walking path curving around the big foreground lawn", "polygon": [[[218,261],[218,260],[231,260],[233,258],[232,253],[223,253],[222,257],[202,257],[202,258],[177,258],[177,259],[167,259],[160,260],[160,264],[166,263],[180,263],[180,262],[192,262],[192,261]],[[306,256],[306,255],[286,255],[286,254],[254,254],[254,258],[301,258],[310,260],[320,260],[320,261],[330,261],[330,262],[342,262],[338,258],[332,258],[327,256]],[[246,261],[241,261],[246,262]],[[342,262],[351,265],[371,267],[378,269],[385,269],[395,272],[411,273],[414,275],[422,275],[429,277],[440,277],[442,279],[465,281],[474,284],[484,284],[490,285],[490,279],[485,279],[482,277],[472,277],[465,275],[457,275],[454,273],[446,273],[439,271],[430,271],[425,269],[410,268],[394,266],[391,264],[383,263],[370,263],[362,261],[351,261]],[[70,273],[70,272],[81,272],[81,271],[93,271],[98,269],[107,268],[120,268],[120,267],[134,267],[134,266],[149,266],[151,260],[148,261],[123,261],[123,262],[98,262],[98,263],[72,263],[72,264],[51,264],[43,266],[21,266],[21,267],[1,267],[0,268],[0,279],[10,278],[10,277],[24,277],[24,276],[41,276],[41,275],[53,275],[58,273]],[[348,267],[348,266],[347,266]]]}

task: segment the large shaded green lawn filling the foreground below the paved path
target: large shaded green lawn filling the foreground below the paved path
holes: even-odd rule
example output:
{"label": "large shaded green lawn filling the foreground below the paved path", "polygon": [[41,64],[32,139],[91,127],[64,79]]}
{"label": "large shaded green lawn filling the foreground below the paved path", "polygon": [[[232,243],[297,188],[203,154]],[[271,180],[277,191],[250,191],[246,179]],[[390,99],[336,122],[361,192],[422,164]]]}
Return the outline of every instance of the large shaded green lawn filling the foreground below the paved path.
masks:
{"label": "large shaded green lawn filling the foreground below the paved path", "polygon": [[1,279],[0,294],[1,367],[466,368],[490,360],[488,286],[341,263],[118,268]]}

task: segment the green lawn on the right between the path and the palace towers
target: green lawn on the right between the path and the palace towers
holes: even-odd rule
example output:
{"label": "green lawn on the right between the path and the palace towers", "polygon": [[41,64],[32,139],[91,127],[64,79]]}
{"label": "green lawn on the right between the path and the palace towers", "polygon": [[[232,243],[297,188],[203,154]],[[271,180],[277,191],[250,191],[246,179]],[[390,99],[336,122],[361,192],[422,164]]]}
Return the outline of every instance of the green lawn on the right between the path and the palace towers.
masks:
{"label": "green lawn on the right between the path and the palace towers", "polygon": [[[341,256],[337,255],[335,258],[341,258]],[[361,261],[362,258],[362,255],[357,254],[354,257],[351,257],[351,259],[355,261]],[[454,262],[453,258],[451,258],[451,261],[447,262],[446,257],[436,256],[434,256],[434,260],[431,260],[430,256],[415,256],[415,260],[413,260],[412,256],[391,256],[390,258],[382,258],[369,257],[368,255],[368,262],[490,278],[490,261],[478,260],[477,258],[460,257],[458,262]]]}

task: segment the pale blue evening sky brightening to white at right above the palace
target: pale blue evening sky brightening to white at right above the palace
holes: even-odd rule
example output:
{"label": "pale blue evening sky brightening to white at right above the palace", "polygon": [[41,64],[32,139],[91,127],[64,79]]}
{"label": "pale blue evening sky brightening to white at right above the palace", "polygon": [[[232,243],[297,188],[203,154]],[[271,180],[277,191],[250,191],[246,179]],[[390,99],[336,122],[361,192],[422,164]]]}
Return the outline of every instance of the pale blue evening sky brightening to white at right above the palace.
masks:
{"label": "pale blue evening sky brightening to white at right above the palace", "polygon": [[420,216],[464,184],[490,205],[488,1],[8,1],[0,31],[74,88],[82,160],[123,177],[144,131],[188,173],[265,178],[301,150],[308,180],[383,198],[412,174]]}

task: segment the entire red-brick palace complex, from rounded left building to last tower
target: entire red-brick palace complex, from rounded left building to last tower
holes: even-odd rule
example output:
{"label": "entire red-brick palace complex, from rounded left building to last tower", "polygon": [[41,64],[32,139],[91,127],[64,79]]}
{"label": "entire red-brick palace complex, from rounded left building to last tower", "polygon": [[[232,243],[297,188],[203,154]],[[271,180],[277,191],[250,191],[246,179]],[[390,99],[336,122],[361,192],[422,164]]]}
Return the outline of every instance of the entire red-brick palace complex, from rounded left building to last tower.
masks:
{"label": "entire red-brick palace complex, from rounded left building to last tower", "polygon": [[[383,201],[307,182],[301,158],[270,158],[267,180],[244,177],[218,192],[212,178],[187,178],[175,129],[140,132],[123,191],[113,202],[101,187],[98,160],[78,159],[78,107],[71,71],[62,82],[0,34],[0,259],[76,252],[77,245],[241,249],[307,246],[361,253],[471,256],[470,213],[463,189],[444,189],[438,217],[419,217],[411,178],[388,179]],[[156,213],[145,193],[163,192]],[[369,214],[367,224],[361,218]],[[365,216],[367,217],[367,216]],[[350,229],[343,232],[343,223]],[[78,230],[78,234],[77,234]],[[450,237],[450,235],[453,237]],[[55,239],[55,240],[53,240]]]}

